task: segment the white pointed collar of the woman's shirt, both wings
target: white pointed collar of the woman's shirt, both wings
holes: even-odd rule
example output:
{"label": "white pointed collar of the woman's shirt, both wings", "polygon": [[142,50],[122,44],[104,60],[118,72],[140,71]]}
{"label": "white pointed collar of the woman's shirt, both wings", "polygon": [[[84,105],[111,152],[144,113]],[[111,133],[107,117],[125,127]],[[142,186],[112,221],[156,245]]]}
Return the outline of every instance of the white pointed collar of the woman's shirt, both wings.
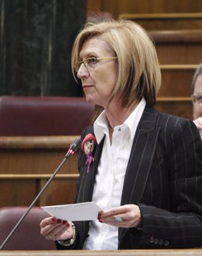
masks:
{"label": "white pointed collar of the woman's shirt, both wings", "polygon": [[[140,103],[134,108],[134,111],[131,112],[131,115],[124,121],[124,123],[120,126],[127,126],[131,132],[131,139],[134,138],[134,134],[137,130],[138,123],[141,119],[141,115],[145,109],[146,101],[145,98],[142,98]],[[105,110],[101,112],[101,114],[96,119],[94,125],[94,133],[96,136],[97,143],[99,144],[100,141],[103,139],[105,134],[109,134],[108,130],[108,121],[106,119]]]}

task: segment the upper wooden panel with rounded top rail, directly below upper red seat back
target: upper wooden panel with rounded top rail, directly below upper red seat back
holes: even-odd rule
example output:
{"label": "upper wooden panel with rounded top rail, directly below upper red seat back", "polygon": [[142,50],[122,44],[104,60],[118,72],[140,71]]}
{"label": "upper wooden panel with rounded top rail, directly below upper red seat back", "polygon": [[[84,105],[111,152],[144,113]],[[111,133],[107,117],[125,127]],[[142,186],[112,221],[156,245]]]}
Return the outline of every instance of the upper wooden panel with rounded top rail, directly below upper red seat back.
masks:
{"label": "upper wooden panel with rounded top rail, directly below upper red seat back", "polygon": [[[0,137],[0,173],[52,173],[75,138]],[[76,159],[76,154],[71,155],[60,173],[77,172]]]}

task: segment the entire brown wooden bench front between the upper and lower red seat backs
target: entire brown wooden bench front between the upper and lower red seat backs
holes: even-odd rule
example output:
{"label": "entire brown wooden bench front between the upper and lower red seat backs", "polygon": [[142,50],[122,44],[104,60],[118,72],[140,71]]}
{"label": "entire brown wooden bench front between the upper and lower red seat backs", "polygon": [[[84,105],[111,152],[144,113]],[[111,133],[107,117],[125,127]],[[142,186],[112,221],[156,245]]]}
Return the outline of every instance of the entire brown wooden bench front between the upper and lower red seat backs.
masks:
{"label": "entire brown wooden bench front between the upper and lower red seat backs", "polygon": [[[0,206],[30,205],[50,174],[62,162],[75,138],[0,137]],[[60,174],[47,187],[38,205],[72,203],[76,177],[61,176],[61,173],[78,175],[77,158],[76,153],[64,162]],[[44,174],[49,176],[40,176]]]}

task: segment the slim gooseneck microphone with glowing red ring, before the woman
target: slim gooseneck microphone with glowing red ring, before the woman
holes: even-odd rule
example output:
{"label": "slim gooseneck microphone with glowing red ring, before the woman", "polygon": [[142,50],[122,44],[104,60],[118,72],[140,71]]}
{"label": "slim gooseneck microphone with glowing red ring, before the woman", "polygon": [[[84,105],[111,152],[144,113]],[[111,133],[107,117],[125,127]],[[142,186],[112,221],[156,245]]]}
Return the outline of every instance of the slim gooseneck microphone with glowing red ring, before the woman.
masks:
{"label": "slim gooseneck microphone with glowing red ring, before the woman", "polygon": [[40,190],[40,193],[37,194],[37,197],[33,200],[33,202],[30,204],[29,208],[27,208],[26,212],[23,214],[23,216],[19,219],[19,222],[17,222],[16,226],[12,229],[12,231],[9,233],[9,235],[5,238],[3,241],[2,245],[0,246],[0,250],[2,250],[2,247],[5,246],[5,244],[8,242],[9,238],[12,236],[12,234],[16,231],[18,226],[23,222],[23,219],[25,219],[26,215],[30,212],[31,208],[33,208],[33,205],[36,203],[36,201],[39,199],[42,193],[44,193],[44,190],[46,190],[47,186],[51,183],[51,181],[54,179],[54,176],[56,176],[57,172],[61,169],[62,165],[64,165],[64,162],[71,156],[74,155],[76,151],[81,146],[81,139],[75,139],[75,141],[70,145],[70,148],[68,149],[68,152],[64,156],[63,161],[61,162],[60,165],[58,165],[57,169],[55,169],[54,173],[51,175],[49,180],[47,180],[47,183],[45,183],[44,187]]}

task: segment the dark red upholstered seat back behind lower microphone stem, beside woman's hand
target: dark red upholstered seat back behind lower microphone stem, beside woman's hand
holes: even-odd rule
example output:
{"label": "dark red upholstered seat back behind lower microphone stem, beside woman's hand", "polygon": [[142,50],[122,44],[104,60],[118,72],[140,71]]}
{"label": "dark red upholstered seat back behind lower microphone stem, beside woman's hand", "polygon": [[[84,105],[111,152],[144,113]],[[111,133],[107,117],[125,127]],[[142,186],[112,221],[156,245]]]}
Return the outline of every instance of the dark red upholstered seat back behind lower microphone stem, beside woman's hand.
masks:
{"label": "dark red upholstered seat back behind lower microphone stem, beside woman's hand", "polygon": [[[26,212],[27,207],[0,208],[0,244],[12,231],[16,223]],[[2,250],[56,250],[54,241],[40,235],[40,221],[48,215],[40,207],[34,206],[23,222],[12,234]]]}

